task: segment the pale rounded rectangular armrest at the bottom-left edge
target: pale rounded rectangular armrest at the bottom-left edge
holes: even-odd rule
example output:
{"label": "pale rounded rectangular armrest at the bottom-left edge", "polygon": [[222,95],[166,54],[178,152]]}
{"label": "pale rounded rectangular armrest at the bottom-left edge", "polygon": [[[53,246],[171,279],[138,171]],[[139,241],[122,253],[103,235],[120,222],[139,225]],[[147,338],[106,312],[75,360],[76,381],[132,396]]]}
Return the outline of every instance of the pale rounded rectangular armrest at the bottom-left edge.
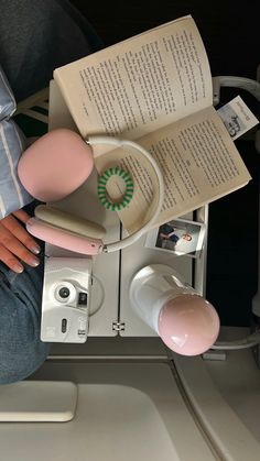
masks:
{"label": "pale rounded rectangular armrest at the bottom-left edge", "polygon": [[77,386],[71,382],[3,384],[0,386],[0,422],[69,421],[74,418],[76,403]]}

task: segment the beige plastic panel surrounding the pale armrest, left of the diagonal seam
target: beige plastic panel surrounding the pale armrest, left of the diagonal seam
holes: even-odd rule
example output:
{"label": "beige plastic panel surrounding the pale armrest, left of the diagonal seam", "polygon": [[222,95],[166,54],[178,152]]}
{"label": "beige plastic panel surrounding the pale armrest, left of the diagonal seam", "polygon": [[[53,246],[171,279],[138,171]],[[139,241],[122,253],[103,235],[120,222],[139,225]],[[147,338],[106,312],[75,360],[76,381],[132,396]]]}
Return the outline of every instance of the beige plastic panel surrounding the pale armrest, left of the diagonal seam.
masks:
{"label": "beige plastic panel surrounding the pale armrest, left of the diagonal seam", "polygon": [[1,460],[216,460],[166,364],[48,363],[47,375],[79,383],[75,418],[0,425]]}

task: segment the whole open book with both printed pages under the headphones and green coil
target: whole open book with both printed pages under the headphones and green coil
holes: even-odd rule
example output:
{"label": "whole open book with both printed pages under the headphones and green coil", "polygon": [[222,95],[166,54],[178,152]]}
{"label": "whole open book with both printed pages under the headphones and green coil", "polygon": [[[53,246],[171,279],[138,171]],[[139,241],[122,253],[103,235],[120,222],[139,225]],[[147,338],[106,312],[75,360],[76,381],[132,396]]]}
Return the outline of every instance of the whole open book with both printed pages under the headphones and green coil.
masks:
{"label": "whole open book with both printed pages under the headphones and green coil", "polygon": [[[160,25],[56,68],[58,85],[79,133],[133,140],[164,174],[158,227],[220,198],[250,180],[223,120],[213,107],[207,54],[192,17]],[[156,206],[156,175],[137,151],[94,147],[99,173],[120,165],[134,182],[133,198],[118,211],[132,233]],[[109,183],[109,194],[122,193]]]}

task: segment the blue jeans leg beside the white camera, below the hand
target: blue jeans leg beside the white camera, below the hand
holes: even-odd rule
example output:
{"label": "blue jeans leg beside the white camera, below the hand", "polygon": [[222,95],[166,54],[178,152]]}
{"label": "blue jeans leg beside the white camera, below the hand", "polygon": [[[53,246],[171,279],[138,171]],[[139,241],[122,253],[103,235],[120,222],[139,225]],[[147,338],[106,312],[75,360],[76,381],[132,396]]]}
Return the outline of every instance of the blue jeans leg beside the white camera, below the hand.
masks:
{"label": "blue jeans leg beside the white camera, below the hand", "polygon": [[43,256],[22,274],[0,263],[0,384],[24,380],[50,352],[40,340]]}

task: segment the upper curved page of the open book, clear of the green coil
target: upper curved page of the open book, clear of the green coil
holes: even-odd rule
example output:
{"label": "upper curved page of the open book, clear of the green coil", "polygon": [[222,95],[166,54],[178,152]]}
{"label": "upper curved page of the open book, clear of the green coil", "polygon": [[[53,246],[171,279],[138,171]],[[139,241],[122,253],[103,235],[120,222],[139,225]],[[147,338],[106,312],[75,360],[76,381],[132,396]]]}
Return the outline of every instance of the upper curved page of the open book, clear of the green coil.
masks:
{"label": "upper curved page of the open book, clear of the green coil", "polygon": [[84,138],[139,139],[213,103],[206,51],[191,17],[59,67],[54,79]]}

